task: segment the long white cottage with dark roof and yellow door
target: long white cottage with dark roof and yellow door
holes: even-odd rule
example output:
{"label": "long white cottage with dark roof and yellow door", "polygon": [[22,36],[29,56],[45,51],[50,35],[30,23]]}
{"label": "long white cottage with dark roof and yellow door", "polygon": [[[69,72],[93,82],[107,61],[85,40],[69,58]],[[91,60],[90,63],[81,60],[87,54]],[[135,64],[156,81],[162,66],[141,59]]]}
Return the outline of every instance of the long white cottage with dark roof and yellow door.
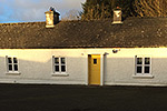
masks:
{"label": "long white cottage with dark roof and yellow door", "polygon": [[167,85],[167,18],[53,21],[58,16],[0,24],[1,83]]}

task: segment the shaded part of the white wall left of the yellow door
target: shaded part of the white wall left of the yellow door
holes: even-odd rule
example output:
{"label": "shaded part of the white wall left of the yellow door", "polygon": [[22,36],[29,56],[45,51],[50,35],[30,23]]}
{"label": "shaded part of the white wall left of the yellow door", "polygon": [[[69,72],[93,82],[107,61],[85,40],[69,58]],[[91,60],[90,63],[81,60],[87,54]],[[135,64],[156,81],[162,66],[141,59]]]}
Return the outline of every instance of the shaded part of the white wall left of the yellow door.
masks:
{"label": "shaded part of the white wall left of the yellow door", "polygon": [[[11,56],[11,54],[10,54]],[[14,54],[16,56],[16,54]],[[12,56],[11,56],[12,57]],[[10,72],[7,74],[8,63],[6,57],[0,57],[0,77],[1,79],[32,79],[32,80],[58,80],[58,81],[84,81],[85,75],[85,58],[66,58],[66,73],[67,75],[53,75],[53,58],[37,58],[33,60],[18,59],[18,72]],[[23,57],[21,57],[23,58]],[[38,60],[37,60],[38,59]],[[40,62],[41,61],[41,62]],[[80,62],[78,62],[80,61]],[[58,73],[62,74],[62,73]]]}

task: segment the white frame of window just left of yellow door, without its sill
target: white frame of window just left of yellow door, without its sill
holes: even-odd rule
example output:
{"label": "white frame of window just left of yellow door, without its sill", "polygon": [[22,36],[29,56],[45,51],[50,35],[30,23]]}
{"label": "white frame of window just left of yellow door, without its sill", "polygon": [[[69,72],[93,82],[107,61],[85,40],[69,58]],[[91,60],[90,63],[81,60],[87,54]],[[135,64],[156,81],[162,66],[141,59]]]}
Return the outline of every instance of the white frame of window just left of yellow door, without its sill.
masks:
{"label": "white frame of window just left of yellow door, without its sill", "polygon": [[[59,59],[59,63],[56,63],[56,58]],[[61,63],[61,59],[65,58],[65,64]],[[56,65],[59,65],[59,71],[56,71]],[[61,70],[61,67],[65,65],[65,71]],[[53,74],[67,74],[67,58],[66,57],[56,57],[52,56],[52,73]]]}

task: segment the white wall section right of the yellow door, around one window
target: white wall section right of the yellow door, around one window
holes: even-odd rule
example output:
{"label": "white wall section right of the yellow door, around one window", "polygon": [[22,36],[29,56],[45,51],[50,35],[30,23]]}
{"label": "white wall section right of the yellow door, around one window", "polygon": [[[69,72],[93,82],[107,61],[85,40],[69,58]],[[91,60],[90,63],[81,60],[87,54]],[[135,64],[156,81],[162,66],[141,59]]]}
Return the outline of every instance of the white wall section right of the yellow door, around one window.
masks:
{"label": "white wall section right of the yellow door, around one window", "polygon": [[[151,74],[154,78],[134,78],[135,56],[148,56],[151,58]],[[167,48],[120,49],[118,53],[110,53],[107,56],[106,65],[106,84],[167,84]]]}

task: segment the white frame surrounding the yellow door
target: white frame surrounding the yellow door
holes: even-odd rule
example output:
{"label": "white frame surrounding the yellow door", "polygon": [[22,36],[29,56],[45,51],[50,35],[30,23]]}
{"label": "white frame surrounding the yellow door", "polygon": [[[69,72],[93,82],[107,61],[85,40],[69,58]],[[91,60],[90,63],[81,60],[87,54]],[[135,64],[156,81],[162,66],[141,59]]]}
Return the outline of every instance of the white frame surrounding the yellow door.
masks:
{"label": "white frame surrounding the yellow door", "polygon": [[105,53],[87,53],[87,74],[86,74],[86,85],[89,85],[89,56],[98,54],[100,56],[100,85],[104,85],[104,58]]}

